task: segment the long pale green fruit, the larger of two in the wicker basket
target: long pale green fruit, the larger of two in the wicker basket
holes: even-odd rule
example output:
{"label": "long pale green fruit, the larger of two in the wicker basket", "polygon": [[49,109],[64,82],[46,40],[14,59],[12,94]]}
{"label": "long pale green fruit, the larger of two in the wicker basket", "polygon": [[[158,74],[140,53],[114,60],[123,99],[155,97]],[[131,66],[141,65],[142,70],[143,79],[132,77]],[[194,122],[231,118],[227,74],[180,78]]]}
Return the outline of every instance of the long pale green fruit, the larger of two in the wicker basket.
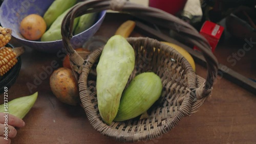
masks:
{"label": "long pale green fruit, the larger of two in the wicker basket", "polygon": [[134,49],[120,35],[111,37],[97,65],[97,100],[103,121],[110,125],[116,117],[121,94],[135,66]]}

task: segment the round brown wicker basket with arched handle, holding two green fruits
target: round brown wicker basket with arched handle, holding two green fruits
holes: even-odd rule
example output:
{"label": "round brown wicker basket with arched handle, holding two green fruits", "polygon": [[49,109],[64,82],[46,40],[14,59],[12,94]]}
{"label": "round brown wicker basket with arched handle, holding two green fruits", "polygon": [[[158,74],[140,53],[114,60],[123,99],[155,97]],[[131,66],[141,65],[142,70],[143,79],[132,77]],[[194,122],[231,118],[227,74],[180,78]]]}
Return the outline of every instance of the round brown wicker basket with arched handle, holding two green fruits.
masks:
{"label": "round brown wicker basket with arched handle, holding two green fruits", "polygon": [[[95,71],[102,48],[99,47],[84,60],[74,51],[70,39],[75,17],[108,9],[130,13],[156,25],[175,30],[183,40],[197,45],[208,63],[206,80],[197,76],[188,61],[172,47],[151,38],[127,38],[136,55],[135,69],[129,82],[137,74],[154,71],[162,80],[163,90],[159,101],[148,110],[148,118],[136,117],[124,122],[113,122],[111,126],[106,125],[97,107],[95,77],[89,75],[90,71]],[[102,135],[115,138],[117,141],[150,140],[167,133],[182,117],[196,112],[212,91],[218,62],[211,53],[208,42],[186,22],[161,10],[124,0],[89,0],[75,5],[70,10],[62,21],[61,34],[71,63],[74,64],[73,70],[77,71],[79,76],[80,99],[91,125]]]}

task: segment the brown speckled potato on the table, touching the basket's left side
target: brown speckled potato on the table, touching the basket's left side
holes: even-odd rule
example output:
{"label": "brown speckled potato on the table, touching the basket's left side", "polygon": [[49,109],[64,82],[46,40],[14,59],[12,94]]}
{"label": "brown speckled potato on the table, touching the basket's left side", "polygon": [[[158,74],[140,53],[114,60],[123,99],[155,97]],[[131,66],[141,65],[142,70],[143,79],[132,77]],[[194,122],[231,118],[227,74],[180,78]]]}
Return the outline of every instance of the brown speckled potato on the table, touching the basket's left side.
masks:
{"label": "brown speckled potato on the table, touching the basket's left side", "polygon": [[53,94],[61,102],[69,105],[79,103],[79,90],[71,69],[60,67],[53,71],[50,77],[50,87]]}

